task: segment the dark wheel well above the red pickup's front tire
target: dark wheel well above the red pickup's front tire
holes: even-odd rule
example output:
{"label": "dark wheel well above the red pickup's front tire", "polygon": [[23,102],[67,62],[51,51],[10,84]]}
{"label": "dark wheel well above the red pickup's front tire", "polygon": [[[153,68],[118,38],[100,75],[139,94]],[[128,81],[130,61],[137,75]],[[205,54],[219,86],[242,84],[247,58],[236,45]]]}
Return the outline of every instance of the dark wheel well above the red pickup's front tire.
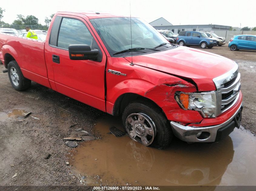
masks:
{"label": "dark wheel well above the red pickup's front tire", "polygon": [[119,96],[117,98],[117,100],[115,101],[115,105],[113,107],[113,115],[114,116],[119,116],[123,113],[125,107],[131,103],[132,101],[135,100],[144,100],[147,101],[153,105],[155,105],[156,107],[159,108],[159,110],[161,110],[161,112],[164,114],[164,116],[166,117],[165,113],[163,112],[163,110],[161,109],[161,107],[159,107],[154,101],[148,99],[147,97],[143,97],[141,95],[138,94],[134,94],[134,93],[126,93],[126,94],[122,94],[121,96]]}

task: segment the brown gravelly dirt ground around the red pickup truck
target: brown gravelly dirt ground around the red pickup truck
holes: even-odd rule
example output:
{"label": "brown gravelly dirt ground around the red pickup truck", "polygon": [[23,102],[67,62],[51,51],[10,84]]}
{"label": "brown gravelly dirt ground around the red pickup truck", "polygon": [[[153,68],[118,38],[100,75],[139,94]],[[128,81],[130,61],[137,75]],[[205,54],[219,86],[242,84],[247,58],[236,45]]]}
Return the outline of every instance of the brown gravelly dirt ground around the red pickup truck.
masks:
{"label": "brown gravelly dirt ground around the red pickup truck", "polygon": [[[256,51],[233,52],[227,45],[205,51],[238,63],[244,96],[242,125],[255,135]],[[27,91],[15,91],[7,73],[0,72],[0,88],[0,116],[23,109],[40,119],[0,119],[0,186],[80,185],[66,164],[71,148],[62,138],[79,128],[94,133],[97,118],[104,113],[36,83]]]}

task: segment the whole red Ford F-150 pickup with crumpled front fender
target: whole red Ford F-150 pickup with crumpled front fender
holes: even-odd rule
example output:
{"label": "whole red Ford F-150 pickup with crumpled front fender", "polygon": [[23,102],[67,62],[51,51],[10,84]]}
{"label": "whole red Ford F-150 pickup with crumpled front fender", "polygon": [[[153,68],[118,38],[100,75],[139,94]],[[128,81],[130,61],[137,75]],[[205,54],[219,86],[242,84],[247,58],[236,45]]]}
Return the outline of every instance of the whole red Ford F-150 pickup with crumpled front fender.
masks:
{"label": "whole red Ford F-150 pickup with crumpled front fender", "polygon": [[170,44],[139,18],[57,12],[45,42],[1,33],[0,50],[16,90],[35,81],[120,115],[145,146],[218,142],[241,123],[237,63]]}

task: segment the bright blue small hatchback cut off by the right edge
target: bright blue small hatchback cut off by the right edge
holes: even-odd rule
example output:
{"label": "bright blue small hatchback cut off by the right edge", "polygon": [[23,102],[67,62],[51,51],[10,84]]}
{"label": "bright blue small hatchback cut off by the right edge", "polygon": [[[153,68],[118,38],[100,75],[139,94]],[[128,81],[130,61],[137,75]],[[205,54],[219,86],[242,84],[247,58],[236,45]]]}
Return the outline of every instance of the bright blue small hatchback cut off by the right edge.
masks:
{"label": "bright blue small hatchback cut off by the right edge", "polygon": [[232,51],[244,49],[244,50],[256,50],[256,36],[255,35],[237,35],[228,43],[228,47]]}

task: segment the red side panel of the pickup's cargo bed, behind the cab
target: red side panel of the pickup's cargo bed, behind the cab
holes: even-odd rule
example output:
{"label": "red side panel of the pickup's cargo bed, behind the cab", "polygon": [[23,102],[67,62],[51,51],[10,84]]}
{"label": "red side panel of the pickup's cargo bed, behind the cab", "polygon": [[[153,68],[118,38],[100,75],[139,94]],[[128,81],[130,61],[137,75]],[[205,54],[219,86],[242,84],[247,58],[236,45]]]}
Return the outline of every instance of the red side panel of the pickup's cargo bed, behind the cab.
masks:
{"label": "red side panel of the pickup's cargo bed, behind the cab", "polygon": [[[5,53],[12,55],[19,63],[25,78],[51,88],[45,64],[44,47],[45,42],[41,40],[0,33],[0,60],[3,62],[8,59],[3,58],[2,55]],[[5,68],[7,68],[6,65]]]}

